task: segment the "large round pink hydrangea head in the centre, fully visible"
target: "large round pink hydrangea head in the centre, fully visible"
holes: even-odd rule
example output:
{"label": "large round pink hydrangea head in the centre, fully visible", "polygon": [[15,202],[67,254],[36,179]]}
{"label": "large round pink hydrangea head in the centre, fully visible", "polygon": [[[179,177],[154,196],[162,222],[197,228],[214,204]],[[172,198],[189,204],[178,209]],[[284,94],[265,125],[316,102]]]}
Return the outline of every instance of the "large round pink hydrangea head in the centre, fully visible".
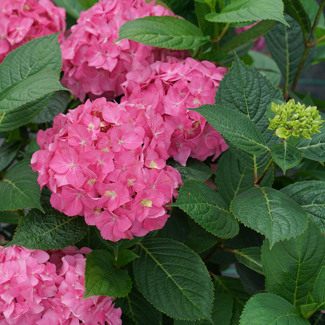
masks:
{"label": "large round pink hydrangea head in the centre, fully visible", "polygon": [[181,184],[166,165],[172,133],[150,106],[88,99],[38,132],[31,166],[55,209],[84,215],[108,240],[144,236],[163,227]]}

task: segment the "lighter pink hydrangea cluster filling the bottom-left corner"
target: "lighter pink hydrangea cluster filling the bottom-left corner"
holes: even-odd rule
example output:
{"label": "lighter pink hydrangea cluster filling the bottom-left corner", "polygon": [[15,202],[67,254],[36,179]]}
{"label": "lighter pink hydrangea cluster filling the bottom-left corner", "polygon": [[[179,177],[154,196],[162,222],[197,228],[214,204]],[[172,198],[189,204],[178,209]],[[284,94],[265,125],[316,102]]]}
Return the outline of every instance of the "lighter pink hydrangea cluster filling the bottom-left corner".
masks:
{"label": "lighter pink hydrangea cluster filling the bottom-left corner", "polygon": [[83,254],[75,246],[40,251],[0,246],[1,325],[121,325],[113,297],[85,293]]}

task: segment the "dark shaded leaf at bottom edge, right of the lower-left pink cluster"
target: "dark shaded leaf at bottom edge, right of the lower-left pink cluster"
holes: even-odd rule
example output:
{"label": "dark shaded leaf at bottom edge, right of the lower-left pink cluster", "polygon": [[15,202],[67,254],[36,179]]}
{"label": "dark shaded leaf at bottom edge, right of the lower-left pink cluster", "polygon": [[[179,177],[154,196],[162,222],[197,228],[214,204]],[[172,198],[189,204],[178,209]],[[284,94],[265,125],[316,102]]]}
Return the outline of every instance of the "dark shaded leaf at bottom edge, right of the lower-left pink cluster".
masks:
{"label": "dark shaded leaf at bottom edge, right of the lower-left pink cluster", "polygon": [[162,322],[162,313],[134,288],[126,297],[118,298],[114,302],[115,308],[121,307],[137,325],[160,325]]}

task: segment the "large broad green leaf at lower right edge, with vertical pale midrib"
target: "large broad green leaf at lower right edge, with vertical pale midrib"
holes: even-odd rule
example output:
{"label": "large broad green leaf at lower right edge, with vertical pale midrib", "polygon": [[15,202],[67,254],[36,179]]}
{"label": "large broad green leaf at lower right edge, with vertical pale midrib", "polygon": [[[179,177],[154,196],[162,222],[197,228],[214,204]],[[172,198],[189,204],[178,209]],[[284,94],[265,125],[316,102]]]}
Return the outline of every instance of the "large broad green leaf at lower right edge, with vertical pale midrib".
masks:
{"label": "large broad green leaf at lower right edge, with vertical pale midrib", "polygon": [[266,291],[279,295],[295,307],[304,305],[321,267],[325,265],[324,235],[309,220],[302,235],[279,241],[271,250],[269,244],[266,240],[262,246]]}

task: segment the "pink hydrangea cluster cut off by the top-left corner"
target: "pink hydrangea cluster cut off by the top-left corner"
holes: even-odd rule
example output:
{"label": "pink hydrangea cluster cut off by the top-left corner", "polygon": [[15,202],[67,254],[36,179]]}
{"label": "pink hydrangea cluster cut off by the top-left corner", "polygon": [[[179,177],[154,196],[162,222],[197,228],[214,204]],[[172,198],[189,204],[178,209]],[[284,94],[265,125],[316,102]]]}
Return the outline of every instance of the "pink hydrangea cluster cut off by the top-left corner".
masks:
{"label": "pink hydrangea cluster cut off by the top-left corner", "polygon": [[1,0],[0,63],[18,46],[65,28],[65,9],[50,0]]}

